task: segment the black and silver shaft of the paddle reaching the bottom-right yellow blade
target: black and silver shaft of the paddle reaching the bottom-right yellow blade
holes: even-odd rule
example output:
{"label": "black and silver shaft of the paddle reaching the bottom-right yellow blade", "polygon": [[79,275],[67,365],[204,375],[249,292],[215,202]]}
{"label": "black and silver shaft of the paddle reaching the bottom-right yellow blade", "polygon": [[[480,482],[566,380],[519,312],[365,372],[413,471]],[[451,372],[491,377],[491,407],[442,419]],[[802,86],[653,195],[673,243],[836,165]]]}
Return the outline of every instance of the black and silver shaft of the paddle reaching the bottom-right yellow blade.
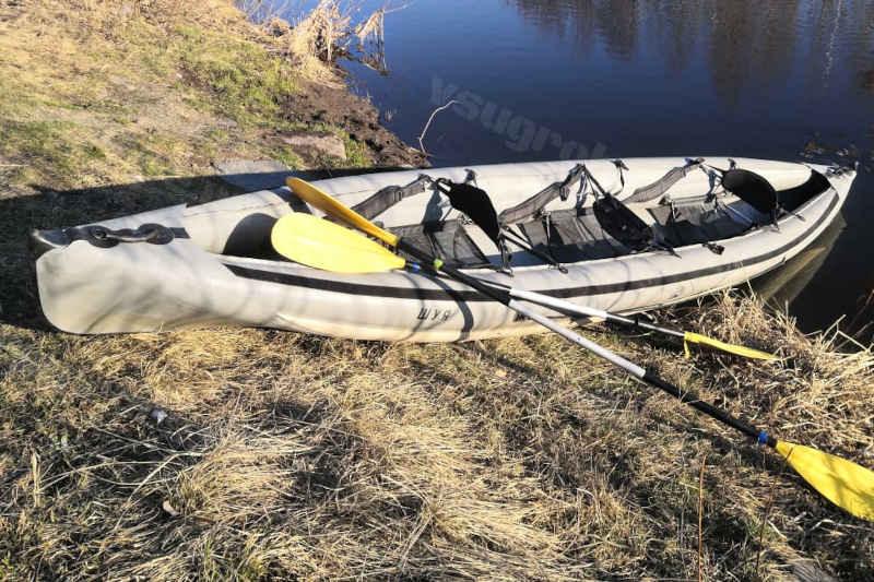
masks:
{"label": "black and silver shaft of the paddle reaching the bottom-right yellow blade", "polygon": [[[594,355],[604,358],[614,366],[622,368],[623,370],[627,371],[635,378],[638,378],[643,382],[650,384],[651,387],[658,388],[666,392],[668,394],[671,394],[675,399],[680,400],[680,402],[688,404],[689,406],[708,415],[709,417],[719,420],[720,423],[728,425],[736,430],[740,430],[749,438],[756,439],[759,443],[768,444],[771,448],[777,446],[777,441],[773,439],[773,437],[770,437],[764,431],[758,430],[757,428],[744,423],[739,418],[735,418],[725,411],[717,408],[712,404],[701,401],[695,392],[688,392],[688,391],[684,392],[680,390],[680,388],[675,387],[674,384],[665,380],[662,380],[651,371],[648,371],[646,368],[642,368],[631,361],[628,361],[618,354],[614,354],[610,349],[600,346],[590,340],[587,340],[586,337],[568,330],[567,328],[559,325],[558,323],[552,321],[550,318],[536,313],[532,309],[525,307],[524,305],[521,305],[520,302],[513,299],[513,297],[517,297],[519,299],[524,299],[524,295],[528,294],[528,292],[519,292],[512,288],[498,288],[489,286],[488,284],[485,284],[477,278],[474,278],[470,275],[462,273],[461,271],[458,271],[457,269],[447,266],[446,264],[442,263],[442,261],[435,260],[434,257],[430,257],[427,253],[418,250],[416,247],[409,245],[402,238],[398,239],[397,248],[399,250],[406,252],[412,257],[415,257],[425,264],[433,265],[435,270],[446,273],[456,281],[459,281],[470,287],[473,287],[483,295],[506,305],[508,308],[512,309],[518,313],[521,313],[522,316],[529,318],[530,320],[536,321],[544,328],[557,333],[562,337],[570,342],[574,342],[580,347],[583,347],[584,349],[592,352]],[[534,294],[534,295],[540,295],[540,294]]]}

